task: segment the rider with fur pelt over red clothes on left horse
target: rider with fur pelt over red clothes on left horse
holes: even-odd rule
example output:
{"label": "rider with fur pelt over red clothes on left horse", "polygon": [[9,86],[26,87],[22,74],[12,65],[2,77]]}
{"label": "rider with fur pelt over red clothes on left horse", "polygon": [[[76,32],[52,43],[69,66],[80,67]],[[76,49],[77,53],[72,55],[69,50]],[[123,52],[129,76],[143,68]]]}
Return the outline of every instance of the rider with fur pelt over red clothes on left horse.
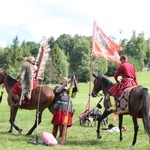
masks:
{"label": "rider with fur pelt over red clothes on left horse", "polygon": [[21,105],[22,100],[25,100],[25,104],[30,104],[31,91],[37,86],[34,79],[37,70],[37,66],[34,65],[35,58],[30,56],[22,59],[26,62],[21,67],[19,81],[12,87],[12,96],[17,102],[14,106]]}

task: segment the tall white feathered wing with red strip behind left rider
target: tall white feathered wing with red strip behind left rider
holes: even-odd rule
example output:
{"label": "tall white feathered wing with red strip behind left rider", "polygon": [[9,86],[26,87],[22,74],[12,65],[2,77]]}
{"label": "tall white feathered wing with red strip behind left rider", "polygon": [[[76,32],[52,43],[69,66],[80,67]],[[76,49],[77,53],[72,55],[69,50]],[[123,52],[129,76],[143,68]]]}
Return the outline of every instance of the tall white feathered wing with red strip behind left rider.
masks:
{"label": "tall white feathered wing with red strip behind left rider", "polygon": [[48,39],[45,36],[43,36],[40,42],[39,52],[35,61],[35,65],[37,66],[37,71],[35,74],[36,80],[37,79],[43,80],[44,78],[44,68],[50,51],[49,46],[50,45],[48,44]]}

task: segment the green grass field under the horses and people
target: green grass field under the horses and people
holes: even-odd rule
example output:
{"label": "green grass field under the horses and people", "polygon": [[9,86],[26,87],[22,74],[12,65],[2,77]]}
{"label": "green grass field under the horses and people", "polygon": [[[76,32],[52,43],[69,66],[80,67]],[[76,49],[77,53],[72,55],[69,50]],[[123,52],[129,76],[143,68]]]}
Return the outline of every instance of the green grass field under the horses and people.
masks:
{"label": "green grass field under the horses and people", "polygon": [[[150,91],[150,72],[137,73],[138,82],[140,85],[147,87]],[[93,87],[93,83],[91,85]],[[43,131],[52,131],[51,119],[52,115],[46,109],[43,113],[42,123],[38,126],[38,129],[33,132],[31,136],[25,134],[32,127],[35,120],[35,110],[19,110],[16,117],[16,125],[23,129],[24,134],[20,135],[16,130],[13,133],[8,133],[9,124],[9,106],[7,104],[7,94],[3,95],[3,100],[0,104],[0,150],[149,150],[149,138],[145,134],[143,129],[142,120],[139,120],[139,132],[137,137],[137,143],[135,147],[131,147],[133,138],[133,123],[132,118],[129,115],[124,116],[123,125],[127,127],[127,131],[123,131],[123,141],[119,142],[118,132],[107,132],[101,130],[102,139],[98,140],[96,137],[96,126],[83,127],[79,124],[79,115],[84,112],[87,101],[89,99],[89,84],[79,83],[80,92],[77,93],[75,99],[73,99],[73,107],[75,108],[75,114],[73,117],[74,124],[68,129],[67,141],[64,146],[45,146],[45,145],[32,145],[29,141],[35,141],[36,135],[38,135],[39,141],[41,141],[41,133]],[[94,108],[100,98],[90,98],[91,109]],[[112,123],[112,115],[109,116],[108,124]],[[117,126],[117,124],[116,124]],[[60,139],[57,138],[58,142]]]}

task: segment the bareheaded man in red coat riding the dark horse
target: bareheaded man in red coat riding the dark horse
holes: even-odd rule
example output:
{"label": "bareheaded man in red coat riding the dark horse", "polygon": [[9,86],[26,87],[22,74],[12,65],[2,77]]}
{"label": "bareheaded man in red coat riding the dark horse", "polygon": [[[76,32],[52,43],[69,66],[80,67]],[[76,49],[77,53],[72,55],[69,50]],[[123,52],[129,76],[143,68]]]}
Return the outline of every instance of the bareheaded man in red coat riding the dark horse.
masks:
{"label": "bareheaded man in red coat riding the dark horse", "polygon": [[[114,98],[118,98],[122,92],[129,87],[137,85],[136,69],[127,61],[126,56],[120,57],[121,65],[118,67],[114,74],[116,84],[109,89],[111,108],[108,110],[116,110],[116,103]],[[122,76],[121,81],[118,77]]]}

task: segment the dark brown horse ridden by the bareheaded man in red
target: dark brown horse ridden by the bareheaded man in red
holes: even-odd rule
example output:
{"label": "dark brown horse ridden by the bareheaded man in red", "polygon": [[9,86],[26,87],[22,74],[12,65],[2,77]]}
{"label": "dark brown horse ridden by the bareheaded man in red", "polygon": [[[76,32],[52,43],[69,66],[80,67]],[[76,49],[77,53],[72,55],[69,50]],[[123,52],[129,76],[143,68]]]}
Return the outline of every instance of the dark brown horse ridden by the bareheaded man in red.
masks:
{"label": "dark brown horse ridden by the bareheaded man in red", "polygon": [[[92,90],[92,97],[96,97],[99,93],[99,91],[102,90],[104,95],[106,96],[108,94],[108,90],[110,87],[112,87],[114,84],[105,76],[103,75],[94,75],[95,80],[94,80],[94,87]],[[112,113],[112,111],[108,111],[107,109],[109,108],[109,101],[106,100],[106,97],[104,99],[104,107],[105,110],[100,118],[98,118],[98,126],[97,126],[97,138],[100,139],[100,123],[101,121],[107,117],[109,114]],[[137,117],[139,112],[142,114],[142,119],[143,119],[143,125],[145,128],[146,133],[150,137],[150,95],[148,94],[148,89],[142,87],[142,86],[137,86],[133,87],[129,93],[129,112],[126,114],[130,114],[132,116],[132,120],[134,123],[134,137],[132,141],[132,146],[135,145],[136,140],[137,140],[137,133],[138,133],[138,121]],[[123,121],[123,115],[124,114],[119,114],[119,129],[120,129],[120,141],[122,141],[122,121]]]}

